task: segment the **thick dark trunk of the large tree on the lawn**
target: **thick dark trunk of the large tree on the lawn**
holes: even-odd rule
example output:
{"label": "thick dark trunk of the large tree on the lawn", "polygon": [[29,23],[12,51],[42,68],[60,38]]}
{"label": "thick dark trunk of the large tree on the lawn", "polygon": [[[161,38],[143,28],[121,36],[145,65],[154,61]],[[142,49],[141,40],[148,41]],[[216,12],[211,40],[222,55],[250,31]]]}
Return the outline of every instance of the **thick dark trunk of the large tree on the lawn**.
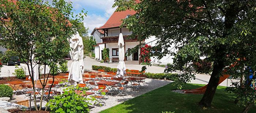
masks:
{"label": "thick dark trunk of the large tree on the lawn", "polygon": [[199,105],[202,107],[210,107],[211,106],[211,102],[214,97],[215,91],[217,89],[217,86],[219,85],[218,84],[219,78],[222,75],[224,63],[221,59],[222,59],[223,53],[221,52],[221,48],[219,50],[220,51],[217,51],[217,55],[219,57],[214,62],[210,81],[208,82],[208,86],[206,88],[203,98],[199,102]]}

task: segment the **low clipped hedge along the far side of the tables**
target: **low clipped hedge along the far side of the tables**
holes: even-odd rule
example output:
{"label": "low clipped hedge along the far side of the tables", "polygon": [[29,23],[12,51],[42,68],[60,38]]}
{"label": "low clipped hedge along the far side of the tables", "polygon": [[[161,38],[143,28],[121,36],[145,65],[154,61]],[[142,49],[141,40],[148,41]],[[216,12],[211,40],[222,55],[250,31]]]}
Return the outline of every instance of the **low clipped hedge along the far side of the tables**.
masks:
{"label": "low clipped hedge along the far side of the tables", "polygon": [[[92,66],[93,70],[104,70],[105,72],[117,72],[116,68],[110,68],[106,66]],[[128,70],[129,72],[129,70]],[[178,74],[176,73],[144,73],[147,78],[153,78],[153,79],[167,79],[167,80],[173,80],[173,77],[177,77]]]}

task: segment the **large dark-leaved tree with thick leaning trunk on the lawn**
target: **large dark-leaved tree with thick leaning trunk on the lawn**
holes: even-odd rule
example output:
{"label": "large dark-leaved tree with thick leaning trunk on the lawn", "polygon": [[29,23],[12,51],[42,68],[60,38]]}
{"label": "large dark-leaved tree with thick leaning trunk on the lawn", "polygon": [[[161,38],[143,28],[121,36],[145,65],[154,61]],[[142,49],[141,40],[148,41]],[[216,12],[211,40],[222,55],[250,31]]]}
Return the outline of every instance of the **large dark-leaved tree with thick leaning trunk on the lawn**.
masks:
{"label": "large dark-leaved tree with thick leaning trunk on the lawn", "polygon": [[[161,48],[161,51],[151,53],[151,56],[158,59],[166,54],[175,56],[173,65],[165,72],[182,71],[174,82],[179,88],[195,78],[192,62],[199,61],[200,57],[213,62],[211,78],[199,105],[211,105],[225,67],[238,58],[246,58],[237,61],[241,63],[237,65],[240,69],[245,66],[256,68],[255,0],[115,1],[113,7],[118,6],[117,11],[130,9],[137,12],[124,19],[121,27],[126,26],[140,40],[156,36],[157,43],[152,49]],[[171,45],[178,51],[170,51]],[[240,77],[237,73],[233,73],[233,77]]]}

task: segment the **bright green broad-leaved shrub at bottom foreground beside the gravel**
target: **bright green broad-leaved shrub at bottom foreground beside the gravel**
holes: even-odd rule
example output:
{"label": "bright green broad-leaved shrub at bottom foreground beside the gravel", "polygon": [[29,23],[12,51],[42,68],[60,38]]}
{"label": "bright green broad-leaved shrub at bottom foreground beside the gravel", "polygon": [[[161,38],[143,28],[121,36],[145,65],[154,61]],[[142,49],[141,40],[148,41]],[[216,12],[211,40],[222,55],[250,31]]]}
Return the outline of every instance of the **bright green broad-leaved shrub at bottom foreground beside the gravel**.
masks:
{"label": "bright green broad-leaved shrub at bottom foreground beside the gravel", "polygon": [[[95,98],[85,98],[77,94],[75,90],[83,90],[80,87],[67,87],[64,93],[54,96],[46,106],[50,109],[51,113],[89,113],[89,102],[96,101]],[[83,90],[85,94],[86,90]]]}

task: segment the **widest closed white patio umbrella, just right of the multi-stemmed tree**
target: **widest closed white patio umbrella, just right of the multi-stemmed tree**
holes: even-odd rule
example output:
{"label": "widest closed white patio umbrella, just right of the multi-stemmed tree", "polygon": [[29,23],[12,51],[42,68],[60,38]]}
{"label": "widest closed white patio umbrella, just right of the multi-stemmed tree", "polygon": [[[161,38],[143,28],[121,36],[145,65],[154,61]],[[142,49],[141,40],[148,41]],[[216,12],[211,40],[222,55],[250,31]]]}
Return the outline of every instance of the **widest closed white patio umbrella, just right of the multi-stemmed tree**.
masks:
{"label": "widest closed white patio umbrella, just right of the multi-stemmed tree", "polygon": [[76,32],[72,36],[72,38],[69,40],[69,46],[71,50],[69,51],[69,54],[72,59],[70,71],[68,74],[68,81],[71,85],[77,85],[77,83],[83,83],[83,76],[80,69],[80,63],[79,63],[79,42],[82,38],[80,38],[79,33]]}

